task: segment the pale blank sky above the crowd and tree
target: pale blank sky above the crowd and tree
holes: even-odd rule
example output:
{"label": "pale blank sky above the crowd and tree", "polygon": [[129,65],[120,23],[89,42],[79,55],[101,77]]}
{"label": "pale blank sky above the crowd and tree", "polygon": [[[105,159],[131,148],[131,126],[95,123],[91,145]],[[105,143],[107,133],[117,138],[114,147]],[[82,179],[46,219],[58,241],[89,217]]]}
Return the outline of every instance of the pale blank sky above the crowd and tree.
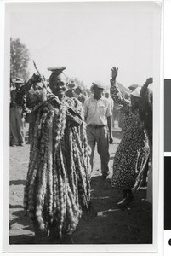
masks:
{"label": "pale blank sky above the crowd and tree", "polygon": [[48,67],[64,66],[88,87],[96,80],[108,86],[117,66],[118,82],[128,87],[157,73],[156,3],[8,3],[8,9],[10,37],[26,44],[46,78]]}

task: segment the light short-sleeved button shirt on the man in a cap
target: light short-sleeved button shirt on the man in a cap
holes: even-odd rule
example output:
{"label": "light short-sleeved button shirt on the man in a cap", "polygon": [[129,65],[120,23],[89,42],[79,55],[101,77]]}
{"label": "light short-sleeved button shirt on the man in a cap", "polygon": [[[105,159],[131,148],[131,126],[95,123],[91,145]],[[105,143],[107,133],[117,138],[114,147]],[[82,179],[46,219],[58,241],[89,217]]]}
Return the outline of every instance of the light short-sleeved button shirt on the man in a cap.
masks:
{"label": "light short-sleeved button shirt on the man in a cap", "polygon": [[102,96],[99,100],[94,96],[85,100],[84,114],[87,125],[107,125],[107,117],[111,116],[111,103]]}

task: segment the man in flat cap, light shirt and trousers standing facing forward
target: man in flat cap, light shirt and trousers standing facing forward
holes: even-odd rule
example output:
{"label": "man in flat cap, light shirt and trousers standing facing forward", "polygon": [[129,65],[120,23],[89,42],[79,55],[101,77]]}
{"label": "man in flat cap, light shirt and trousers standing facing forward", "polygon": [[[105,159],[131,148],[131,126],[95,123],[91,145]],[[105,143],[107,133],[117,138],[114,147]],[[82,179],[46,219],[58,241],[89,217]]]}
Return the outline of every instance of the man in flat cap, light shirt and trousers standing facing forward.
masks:
{"label": "man in flat cap, light shirt and trousers standing facing forward", "polygon": [[[94,96],[84,102],[84,114],[87,123],[88,145],[91,148],[90,164],[93,171],[94,148],[100,154],[101,173],[105,179],[109,175],[109,143],[113,142],[111,135],[111,103],[103,96],[105,87],[100,82],[93,83]],[[108,129],[107,129],[108,126]]]}

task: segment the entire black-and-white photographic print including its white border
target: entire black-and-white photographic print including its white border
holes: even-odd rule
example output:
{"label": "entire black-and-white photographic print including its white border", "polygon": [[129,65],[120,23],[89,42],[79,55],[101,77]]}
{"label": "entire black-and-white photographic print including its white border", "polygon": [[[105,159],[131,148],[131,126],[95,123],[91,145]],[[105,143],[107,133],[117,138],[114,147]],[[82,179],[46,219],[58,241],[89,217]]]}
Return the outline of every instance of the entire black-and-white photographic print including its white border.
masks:
{"label": "entire black-and-white photographic print including its white border", "polygon": [[4,14],[4,252],[157,253],[162,2]]}

